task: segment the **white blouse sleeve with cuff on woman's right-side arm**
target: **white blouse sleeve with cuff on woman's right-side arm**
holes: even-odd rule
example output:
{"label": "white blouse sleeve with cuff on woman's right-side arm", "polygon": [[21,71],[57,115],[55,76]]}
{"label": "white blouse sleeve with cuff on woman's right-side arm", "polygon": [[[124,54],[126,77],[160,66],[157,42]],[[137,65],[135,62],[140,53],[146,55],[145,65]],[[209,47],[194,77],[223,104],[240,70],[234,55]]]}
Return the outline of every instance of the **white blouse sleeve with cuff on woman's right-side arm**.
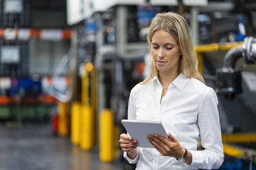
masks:
{"label": "white blouse sleeve with cuff on woman's right-side arm", "polygon": [[192,151],[192,163],[187,167],[218,169],[224,160],[217,96],[211,88],[204,96],[198,113],[202,151]]}

